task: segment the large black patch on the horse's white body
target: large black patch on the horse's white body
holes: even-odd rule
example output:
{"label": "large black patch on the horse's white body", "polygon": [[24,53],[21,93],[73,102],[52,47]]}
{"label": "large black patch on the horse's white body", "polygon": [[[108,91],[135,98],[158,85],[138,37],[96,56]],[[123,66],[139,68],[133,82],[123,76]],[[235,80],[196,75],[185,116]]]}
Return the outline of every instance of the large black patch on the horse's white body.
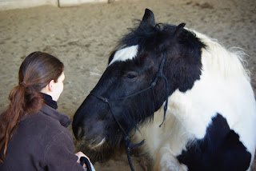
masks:
{"label": "large black patch on the horse's white body", "polygon": [[188,144],[177,158],[190,171],[245,171],[250,166],[250,157],[238,134],[217,113],[206,136]]}

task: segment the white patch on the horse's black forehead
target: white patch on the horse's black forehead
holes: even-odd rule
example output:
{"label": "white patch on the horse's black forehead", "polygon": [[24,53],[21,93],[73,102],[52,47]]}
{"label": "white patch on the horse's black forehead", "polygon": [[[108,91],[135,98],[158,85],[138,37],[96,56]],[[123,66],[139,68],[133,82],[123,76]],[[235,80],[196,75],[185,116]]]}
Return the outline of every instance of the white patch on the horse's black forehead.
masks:
{"label": "white patch on the horse's black forehead", "polygon": [[125,62],[126,60],[129,60],[129,59],[132,60],[137,55],[137,53],[138,53],[138,45],[130,46],[130,47],[126,47],[121,50],[118,50],[114,54],[114,58],[110,62],[110,65],[118,61]]}

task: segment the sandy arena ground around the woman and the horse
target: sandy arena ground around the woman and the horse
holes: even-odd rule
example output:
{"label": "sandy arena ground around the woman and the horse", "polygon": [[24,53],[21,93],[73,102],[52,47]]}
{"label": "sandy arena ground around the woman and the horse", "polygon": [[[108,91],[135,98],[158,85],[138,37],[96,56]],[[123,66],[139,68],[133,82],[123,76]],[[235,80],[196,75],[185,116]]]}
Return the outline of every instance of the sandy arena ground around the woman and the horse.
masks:
{"label": "sandy arena ground around the woman and the horse", "polygon": [[[0,12],[0,111],[10,89],[18,84],[18,68],[26,55],[45,51],[64,62],[65,89],[59,111],[74,112],[98,82],[116,42],[141,19],[145,8],[157,22],[179,24],[218,39],[226,48],[245,50],[247,68],[256,90],[256,3],[254,0],[126,0],[57,8],[40,6]],[[135,170],[147,170],[133,157]],[[130,170],[126,157],[96,163],[97,170]],[[256,170],[256,169],[252,169]]]}

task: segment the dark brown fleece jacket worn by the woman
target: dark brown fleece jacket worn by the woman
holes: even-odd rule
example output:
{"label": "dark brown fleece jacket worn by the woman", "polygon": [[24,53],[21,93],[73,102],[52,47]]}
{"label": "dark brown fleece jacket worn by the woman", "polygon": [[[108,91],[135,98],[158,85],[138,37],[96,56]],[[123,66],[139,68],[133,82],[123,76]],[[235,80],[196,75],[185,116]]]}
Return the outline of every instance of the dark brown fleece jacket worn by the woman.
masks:
{"label": "dark brown fleece jacket worn by the woman", "polygon": [[49,105],[18,124],[1,171],[83,171],[74,155],[70,117]]}

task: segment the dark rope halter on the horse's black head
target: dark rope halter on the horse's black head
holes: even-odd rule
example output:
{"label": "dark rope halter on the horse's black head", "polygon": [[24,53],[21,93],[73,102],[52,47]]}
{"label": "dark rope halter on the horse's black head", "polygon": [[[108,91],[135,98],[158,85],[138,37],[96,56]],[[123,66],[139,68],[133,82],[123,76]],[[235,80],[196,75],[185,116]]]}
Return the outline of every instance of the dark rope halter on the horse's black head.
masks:
{"label": "dark rope halter on the horse's black head", "polygon": [[168,85],[167,78],[166,78],[166,76],[164,74],[162,74],[162,70],[163,70],[163,66],[164,66],[165,62],[166,62],[166,55],[164,54],[163,58],[162,58],[162,62],[161,62],[160,67],[159,67],[159,70],[158,70],[158,73],[156,74],[156,76],[154,78],[154,81],[146,89],[142,89],[141,91],[138,91],[137,93],[132,93],[132,94],[124,96],[124,97],[118,97],[118,98],[109,99],[109,98],[102,97],[102,96],[100,96],[98,94],[90,92],[91,95],[93,95],[94,97],[97,97],[99,100],[104,101],[106,104],[108,104],[108,106],[110,108],[110,112],[112,113],[112,115],[114,117],[114,120],[118,123],[118,126],[120,127],[120,129],[122,129],[122,132],[125,135],[124,139],[125,139],[125,145],[126,145],[126,155],[127,155],[128,161],[129,161],[130,169],[132,171],[134,171],[134,166],[132,165],[131,160],[130,160],[130,149],[134,148],[134,147],[138,147],[140,145],[143,145],[145,143],[145,139],[142,140],[138,144],[132,144],[131,143],[130,137],[129,137],[130,131],[128,131],[128,133],[126,133],[126,131],[122,128],[122,125],[120,124],[118,119],[114,116],[114,112],[113,112],[113,110],[111,108],[110,102],[111,101],[120,101],[120,100],[123,100],[125,98],[134,97],[134,96],[138,95],[139,93],[142,93],[142,92],[144,92],[144,91],[146,91],[148,89],[151,89],[152,93],[153,93],[153,97],[154,97],[154,104],[155,104],[154,86],[158,82],[158,78],[162,78],[165,81],[165,85],[166,85],[166,103],[165,103],[165,106],[164,106],[163,121],[162,121],[161,125],[159,125],[159,127],[161,127],[162,124],[164,123],[164,121],[166,120],[166,110],[167,110],[167,105],[168,105],[168,94],[169,94],[169,85]]}

